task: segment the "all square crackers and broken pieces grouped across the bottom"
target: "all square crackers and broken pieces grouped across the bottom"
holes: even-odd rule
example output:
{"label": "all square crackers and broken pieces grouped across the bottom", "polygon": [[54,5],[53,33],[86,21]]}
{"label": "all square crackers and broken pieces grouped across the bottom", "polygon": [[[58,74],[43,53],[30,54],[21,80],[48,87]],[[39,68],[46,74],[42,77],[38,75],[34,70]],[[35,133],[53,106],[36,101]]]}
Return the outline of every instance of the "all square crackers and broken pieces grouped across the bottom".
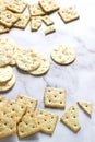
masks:
{"label": "all square crackers and broken pieces grouped across the bottom", "polygon": [[[44,94],[44,106],[49,108],[66,108],[66,90],[56,87],[46,87]],[[19,138],[25,138],[37,132],[52,134],[58,115],[37,107],[36,98],[17,95],[15,100],[8,100],[0,96],[0,138],[16,133]],[[79,106],[91,117],[92,103],[78,102]],[[72,131],[78,132],[81,129],[79,120],[79,108],[76,105],[70,106],[60,117]]]}

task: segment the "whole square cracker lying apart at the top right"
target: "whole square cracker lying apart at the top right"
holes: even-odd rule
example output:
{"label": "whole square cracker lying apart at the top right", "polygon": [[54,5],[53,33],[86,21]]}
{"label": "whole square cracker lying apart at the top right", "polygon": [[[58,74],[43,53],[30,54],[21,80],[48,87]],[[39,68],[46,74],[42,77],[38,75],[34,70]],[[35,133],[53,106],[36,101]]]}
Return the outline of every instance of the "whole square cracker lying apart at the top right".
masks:
{"label": "whole square cracker lying apart at the top right", "polygon": [[80,16],[72,7],[68,7],[66,9],[60,10],[59,12],[60,17],[64,23],[69,23],[71,21],[78,20]]}

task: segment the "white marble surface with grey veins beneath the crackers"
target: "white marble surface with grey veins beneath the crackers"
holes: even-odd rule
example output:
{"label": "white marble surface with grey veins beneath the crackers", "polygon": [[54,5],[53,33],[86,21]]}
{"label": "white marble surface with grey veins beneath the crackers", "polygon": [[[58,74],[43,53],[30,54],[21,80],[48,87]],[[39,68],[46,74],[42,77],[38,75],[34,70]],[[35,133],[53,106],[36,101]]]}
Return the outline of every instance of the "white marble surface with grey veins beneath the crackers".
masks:
{"label": "white marble surface with grey veins beneath the crackers", "polygon": [[[37,0],[27,0],[35,3]],[[48,36],[44,35],[45,25],[37,33],[29,31],[29,24],[25,31],[11,29],[9,34],[0,37],[11,37],[17,45],[34,47],[50,59],[51,48],[59,44],[70,44],[75,48],[76,60],[67,67],[56,64],[50,59],[50,70],[43,76],[32,76],[13,68],[16,74],[15,86],[2,95],[7,98],[15,98],[17,94],[25,94],[38,99],[38,107],[44,108],[44,91],[46,86],[67,90],[67,107],[76,104],[79,99],[93,103],[93,115],[88,118],[80,109],[82,125],[78,133],[73,133],[60,120],[54,134],[38,133],[22,140],[14,134],[0,139],[0,142],[95,142],[95,1],[94,0],[57,0],[60,8],[73,5],[80,14],[80,20],[64,24],[57,13],[50,16],[55,21],[57,32]],[[0,93],[1,95],[1,93]],[[48,109],[48,108],[47,108]],[[59,117],[61,109],[48,109]]]}

